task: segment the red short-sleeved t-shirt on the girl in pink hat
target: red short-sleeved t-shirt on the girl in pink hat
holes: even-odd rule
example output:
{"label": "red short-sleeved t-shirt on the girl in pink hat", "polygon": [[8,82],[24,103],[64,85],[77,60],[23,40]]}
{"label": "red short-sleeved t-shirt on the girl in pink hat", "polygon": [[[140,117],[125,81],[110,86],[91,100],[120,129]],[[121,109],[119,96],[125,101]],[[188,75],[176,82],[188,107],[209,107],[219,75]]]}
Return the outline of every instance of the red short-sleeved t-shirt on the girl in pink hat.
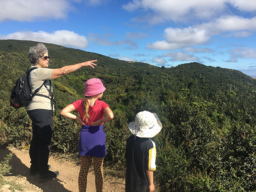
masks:
{"label": "red short-sleeved t-shirt on the girl in pink hat", "polygon": [[[79,115],[81,117],[81,119],[84,119],[84,123],[86,125],[90,125],[91,122],[96,122],[99,119],[102,119],[104,117],[104,109],[105,108],[109,108],[108,104],[103,102],[103,101],[99,101],[98,99],[95,101],[93,106],[89,106],[89,116],[90,119],[88,120],[88,122],[86,122],[86,118],[84,118],[84,105],[83,105],[83,100],[84,99],[79,99],[75,102],[72,103],[72,105],[75,107],[76,111],[79,112]],[[102,123],[102,125],[104,124],[104,122]]]}

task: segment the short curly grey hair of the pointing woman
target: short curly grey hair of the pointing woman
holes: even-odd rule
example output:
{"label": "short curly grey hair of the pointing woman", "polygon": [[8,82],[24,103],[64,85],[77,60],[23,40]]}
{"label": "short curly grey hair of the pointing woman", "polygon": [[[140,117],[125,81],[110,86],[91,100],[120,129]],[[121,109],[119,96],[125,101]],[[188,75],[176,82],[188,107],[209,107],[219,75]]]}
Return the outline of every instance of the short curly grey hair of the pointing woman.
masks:
{"label": "short curly grey hair of the pointing woman", "polygon": [[34,47],[30,47],[28,54],[29,61],[35,65],[40,61],[40,58],[43,57],[44,54],[47,52],[47,48],[42,43],[39,43]]}

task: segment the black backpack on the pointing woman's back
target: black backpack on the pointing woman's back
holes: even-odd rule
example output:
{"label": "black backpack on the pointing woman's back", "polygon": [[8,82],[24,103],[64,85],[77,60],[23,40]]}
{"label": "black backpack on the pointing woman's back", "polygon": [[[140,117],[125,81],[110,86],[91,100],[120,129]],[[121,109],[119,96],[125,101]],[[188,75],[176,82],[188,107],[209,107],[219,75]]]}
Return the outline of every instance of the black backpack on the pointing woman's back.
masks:
{"label": "black backpack on the pointing woman's back", "polygon": [[21,108],[26,107],[29,105],[29,102],[31,102],[33,96],[43,87],[44,83],[34,91],[34,93],[31,93],[31,88],[29,85],[29,79],[28,75],[32,70],[37,69],[38,67],[32,67],[31,69],[27,70],[26,73],[21,76],[19,79],[17,79],[13,89],[12,94],[10,98],[10,103],[12,107],[14,108]]}

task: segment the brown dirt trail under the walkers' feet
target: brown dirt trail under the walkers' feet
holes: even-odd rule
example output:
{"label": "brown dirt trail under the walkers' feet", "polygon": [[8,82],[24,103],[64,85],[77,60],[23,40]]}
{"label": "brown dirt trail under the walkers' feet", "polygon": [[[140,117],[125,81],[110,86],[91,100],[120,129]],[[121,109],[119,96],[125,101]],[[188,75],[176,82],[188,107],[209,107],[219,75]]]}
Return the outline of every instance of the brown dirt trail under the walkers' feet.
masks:
{"label": "brown dirt trail under the walkers' feet", "polygon": [[[49,164],[52,171],[58,170],[60,175],[54,180],[49,180],[44,183],[38,182],[39,175],[29,175],[30,158],[29,151],[16,148],[0,149],[0,161],[6,154],[12,152],[14,155],[10,161],[12,170],[4,177],[6,180],[15,181],[25,187],[25,192],[79,192],[78,189],[78,175],[80,167],[63,158],[49,157]],[[87,178],[87,192],[95,192],[93,169],[90,170]],[[5,186],[0,191],[10,192],[9,186]],[[125,180],[120,178],[113,178],[105,175],[103,192],[124,192]]]}

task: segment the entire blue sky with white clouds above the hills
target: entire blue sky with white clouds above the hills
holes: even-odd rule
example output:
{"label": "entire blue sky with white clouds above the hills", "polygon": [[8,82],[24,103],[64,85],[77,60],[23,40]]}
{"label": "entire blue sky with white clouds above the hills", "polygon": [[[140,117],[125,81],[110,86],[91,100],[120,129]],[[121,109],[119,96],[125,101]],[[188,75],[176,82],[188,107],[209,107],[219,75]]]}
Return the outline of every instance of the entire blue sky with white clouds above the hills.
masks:
{"label": "entire blue sky with white clouds above the hills", "polygon": [[0,7],[0,39],[256,76],[256,0],[0,0]]}

